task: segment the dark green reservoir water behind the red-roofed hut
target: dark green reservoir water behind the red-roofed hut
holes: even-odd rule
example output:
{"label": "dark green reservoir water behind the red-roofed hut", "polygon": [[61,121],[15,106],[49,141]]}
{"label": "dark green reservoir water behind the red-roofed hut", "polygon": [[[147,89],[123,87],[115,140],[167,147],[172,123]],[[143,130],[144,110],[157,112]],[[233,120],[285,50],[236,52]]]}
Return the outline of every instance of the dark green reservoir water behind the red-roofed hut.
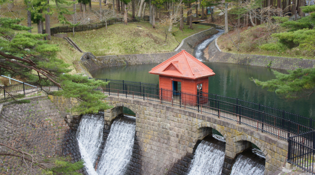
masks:
{"label": "dark green reservoir water behind the red-roofed hut", "polygon": [[[209,92],[252,101],[270,107],[282,109],[305,117],[315,118],[315,96],[307,99],[285,100],[276,93],[256,86],[250,78],[261,81],[275,78],[271,69],[231,63],[203,62],[216,75],[209,77]],[[92,71],[94,78],[108,78],[158,84],[158,75],[149,71],[158,64],[131,65],[103,68]],[[285,70],[280,70],[285,73]]]}

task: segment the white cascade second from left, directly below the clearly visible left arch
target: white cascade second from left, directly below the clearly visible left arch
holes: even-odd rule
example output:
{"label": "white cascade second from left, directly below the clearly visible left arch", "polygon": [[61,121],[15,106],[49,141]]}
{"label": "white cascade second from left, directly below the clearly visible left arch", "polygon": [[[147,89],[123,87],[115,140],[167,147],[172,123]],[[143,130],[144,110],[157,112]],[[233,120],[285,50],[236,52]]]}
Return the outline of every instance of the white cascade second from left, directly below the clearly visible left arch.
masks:
{"label": "white cascade second from left, directly below the clearly visible left arch", "polygon": [[102,156],[98,162],[98,175],[122,175],[132,155],[135,133],[134,122],[115,120],[111,126]]}

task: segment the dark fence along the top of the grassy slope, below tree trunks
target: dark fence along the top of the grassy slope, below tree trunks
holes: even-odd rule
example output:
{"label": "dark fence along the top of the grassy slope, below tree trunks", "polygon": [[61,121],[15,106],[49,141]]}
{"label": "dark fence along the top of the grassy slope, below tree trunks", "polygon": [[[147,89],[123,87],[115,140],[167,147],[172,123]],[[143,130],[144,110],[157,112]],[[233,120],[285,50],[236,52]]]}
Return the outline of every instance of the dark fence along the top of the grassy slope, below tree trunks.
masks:
{"label": "dark fence along the top of the grassy slope, below tree trunks", "polygon": [[[135,17],[128,19],[128,22],[146,22],[149,21],[149,16],[144,17]],[[107,20],[107,26],[117,23],[124,23],[124,18],[116,18]],[[84,31],[84,30],[92,30],[92,29],[100,29],[104,28],[106,26],[105,22],[96,23],[96,24],[87,24],[87,25],[79,25],[74,28],[74,31]],[[66,33],[66,32],[72,32],[73,29],[70,26],[60,26],[56,28],[50,28],[51,35],[56,33]],[[45,29],[43,29],[43,34],[46,32]]]}

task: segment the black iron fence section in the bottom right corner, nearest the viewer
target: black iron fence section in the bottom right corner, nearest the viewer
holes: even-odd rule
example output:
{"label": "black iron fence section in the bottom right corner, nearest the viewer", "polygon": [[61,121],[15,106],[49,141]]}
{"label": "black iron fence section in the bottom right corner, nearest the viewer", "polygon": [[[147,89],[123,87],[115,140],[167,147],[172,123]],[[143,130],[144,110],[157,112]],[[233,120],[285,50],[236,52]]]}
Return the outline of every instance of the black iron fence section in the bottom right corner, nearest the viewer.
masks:
{"label": "black iron fence section in the bottom right corner, nearest the viewer", "polygon": [[315,132],[310,131],[288,139],[287,161],[315,175]]}

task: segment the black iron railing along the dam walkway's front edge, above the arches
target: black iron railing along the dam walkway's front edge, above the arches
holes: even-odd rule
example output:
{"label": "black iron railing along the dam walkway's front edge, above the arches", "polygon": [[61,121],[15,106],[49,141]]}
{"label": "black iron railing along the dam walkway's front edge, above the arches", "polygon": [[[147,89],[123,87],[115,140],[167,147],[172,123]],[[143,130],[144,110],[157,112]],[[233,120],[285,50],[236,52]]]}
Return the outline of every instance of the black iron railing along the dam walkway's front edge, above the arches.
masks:
{"label": "black iron railing along the dam walkway's front edge, above the arches", "polygon": [[[190,109],[198,113],[215,115],[245,124],[282,139],[307,133],[315,128],[315,122],[312,118],[237,98],[212,93],[175,92],[170,89],[160,89],[158,84],[112,79],[96,80],[109,82],[108,85],[95,89],[108,95],[143,99]],[[1,100],[11,98],[11,96],[25,95],[40,89],[59,90],[59,87],[35,87],[21,83],[4,87],[4,89],[5,91],[3,89],[0,91]]]}

